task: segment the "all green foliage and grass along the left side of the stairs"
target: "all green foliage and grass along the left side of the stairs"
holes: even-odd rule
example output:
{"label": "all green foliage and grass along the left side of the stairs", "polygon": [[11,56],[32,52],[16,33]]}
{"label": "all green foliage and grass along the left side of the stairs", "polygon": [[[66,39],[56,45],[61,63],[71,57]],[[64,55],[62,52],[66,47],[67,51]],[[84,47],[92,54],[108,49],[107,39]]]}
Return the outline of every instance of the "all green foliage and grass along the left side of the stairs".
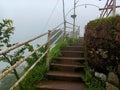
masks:
{"label": "all green foliage and grass along the left side of the stairs", "polygon": [[[52,50],[50,51],[50,59],[52,60],[53,57],[60,55],[59,50],[61,46],[67,45],[66,42],[59,42]],[[34,48],[27,44],[26,46],[29,50],[33,51]],[[47,47],[44,46],[34,55],[27,59],[28,67],[25,71],[39,58],[45,51]],[[45,56],[46,57],[46,56]],[[46,58],[43,58],[41,62],[39,62],[33,70],[26,76],[26,78],[22,81],[23,90],[36,90],[36,85],[41,81],[46,79]],[[17,89],[16,89],[17,90]]]}

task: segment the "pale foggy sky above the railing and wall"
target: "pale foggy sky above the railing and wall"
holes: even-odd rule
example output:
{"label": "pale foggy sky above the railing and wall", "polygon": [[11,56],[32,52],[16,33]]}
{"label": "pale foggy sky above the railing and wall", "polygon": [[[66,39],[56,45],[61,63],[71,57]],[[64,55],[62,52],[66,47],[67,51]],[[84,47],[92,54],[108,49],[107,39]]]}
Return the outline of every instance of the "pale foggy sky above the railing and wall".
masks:
{"label": "pale foggy sky above the railing and wall", "polygon": [[[56,5],[57,1],[58,4]],[[66,13],[73,8],[73,1],[65,0]],[[103,7],[105,1],[79,0],[77,5],[94,4]],[[120,0],[117,0],[117,4],[120,5]],[[51,16],[55,5],[56,8]],[[117,9],[117,13],[120,14],[120,8]],[[73,12],[66,18],[68,21],[73,22],[73,19],[70,17],[71,14]],[[81,27],[80,33],[83,35],[84,26],[90,20],[99,18],[100,11],[93,6],[87,6],[87,8],[81,6],[76,9],[76,14],[76,24]],[[0,0],[0,21],[5,18],[13,20],[13,25],[16,28],[12,41],[24,41],[47,32],[47,30],[53,29],[63,22],[62,0]]]}

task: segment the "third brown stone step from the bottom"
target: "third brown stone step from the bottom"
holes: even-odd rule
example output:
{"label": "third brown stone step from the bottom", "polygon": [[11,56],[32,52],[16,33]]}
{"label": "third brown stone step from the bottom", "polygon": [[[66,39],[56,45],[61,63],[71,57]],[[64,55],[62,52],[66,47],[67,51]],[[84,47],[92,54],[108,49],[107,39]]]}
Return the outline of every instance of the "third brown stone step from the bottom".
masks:
{"label": "third brown stone step from the bottom", "polygon": [[55,71],[73,71],[73,72],[84,71],[84,65],[74,63],[73,64],[52,63],[50,67],[51,70]]}

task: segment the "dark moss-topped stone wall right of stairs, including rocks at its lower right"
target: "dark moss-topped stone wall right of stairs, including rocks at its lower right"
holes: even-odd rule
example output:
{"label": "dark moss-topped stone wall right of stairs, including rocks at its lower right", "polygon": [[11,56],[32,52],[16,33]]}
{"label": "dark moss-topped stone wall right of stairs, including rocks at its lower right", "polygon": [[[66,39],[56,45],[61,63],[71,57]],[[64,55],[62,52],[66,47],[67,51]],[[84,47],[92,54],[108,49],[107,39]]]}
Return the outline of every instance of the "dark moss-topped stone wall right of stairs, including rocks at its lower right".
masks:
{"label": "dark moss-topped stone wall right of stairs, including rocks at its lower right", "polygon": [[84,40],[91,68],[106,75],[107,90],[119,90],[120,16],[90,21]]}

